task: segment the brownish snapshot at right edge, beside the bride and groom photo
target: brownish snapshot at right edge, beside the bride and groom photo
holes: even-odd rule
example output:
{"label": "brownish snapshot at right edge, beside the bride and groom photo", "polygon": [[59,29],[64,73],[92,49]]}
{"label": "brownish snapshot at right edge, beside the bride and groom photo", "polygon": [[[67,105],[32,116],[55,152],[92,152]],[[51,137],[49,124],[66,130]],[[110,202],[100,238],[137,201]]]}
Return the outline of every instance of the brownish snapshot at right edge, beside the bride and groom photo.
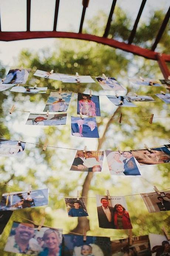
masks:
{"label": "brownish snapshot at right edge, beside the bride and groom photo", "polygon": [[170,151],[167,147],[131,150],[140,165],[170,163]]}

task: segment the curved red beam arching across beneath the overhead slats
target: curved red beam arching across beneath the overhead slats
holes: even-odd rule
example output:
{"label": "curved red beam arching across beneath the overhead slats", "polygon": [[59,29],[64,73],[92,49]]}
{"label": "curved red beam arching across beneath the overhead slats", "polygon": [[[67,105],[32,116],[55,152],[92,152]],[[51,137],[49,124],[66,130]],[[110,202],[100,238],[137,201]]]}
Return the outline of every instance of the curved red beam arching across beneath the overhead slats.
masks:
{"label": "curved red beam arching across beneath the overhead slats", "polygon": [[[72,32],[58,32],[58,31],[24,31],[24,32],[0,32],[0,41],[15,41],[35,38],[72,38],[80,40],[88,40],[96,43],[102,43],[114,48],[131,52],[133,54],[142,56],[147,59],[157,60],[157,52],[149,49],[144,49],[136,45],[128,45],[127,43],[119,42],[114,39],[109,39],[100,36],[72,33]],[[170,55],[162,54],[165,61],[170,62]]]}

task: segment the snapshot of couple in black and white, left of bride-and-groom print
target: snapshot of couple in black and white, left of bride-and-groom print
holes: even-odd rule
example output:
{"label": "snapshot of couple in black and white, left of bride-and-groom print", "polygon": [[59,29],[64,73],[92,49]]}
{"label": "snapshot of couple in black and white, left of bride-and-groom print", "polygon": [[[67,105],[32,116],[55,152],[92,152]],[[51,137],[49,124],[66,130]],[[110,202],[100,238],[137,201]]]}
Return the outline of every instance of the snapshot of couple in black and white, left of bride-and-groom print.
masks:
{"label": "snapshot of couple in black and white, left of bride-and-groom print", "polygon": [[102,171],[104,151],[83,151],[76,152],[71,171]]}

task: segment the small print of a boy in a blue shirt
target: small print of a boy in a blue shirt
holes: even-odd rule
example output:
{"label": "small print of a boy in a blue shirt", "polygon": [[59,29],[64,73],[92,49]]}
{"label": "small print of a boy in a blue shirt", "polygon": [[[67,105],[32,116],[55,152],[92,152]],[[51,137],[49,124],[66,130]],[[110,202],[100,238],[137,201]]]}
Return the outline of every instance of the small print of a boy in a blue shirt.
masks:
{"label": "small print of a boy in a blue shirt", "polygon": [[65,198],[65,204],[68,212],[68,217],[84,217],[88,216],[84,199]]}

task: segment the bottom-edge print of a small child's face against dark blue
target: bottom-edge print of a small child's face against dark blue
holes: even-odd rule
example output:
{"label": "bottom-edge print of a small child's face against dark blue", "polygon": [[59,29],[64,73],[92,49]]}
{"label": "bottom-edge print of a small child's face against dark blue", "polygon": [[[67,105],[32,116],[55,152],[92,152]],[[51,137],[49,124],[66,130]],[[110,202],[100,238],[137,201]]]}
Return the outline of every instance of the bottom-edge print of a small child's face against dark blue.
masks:
{"label": "bottom-edge print of a small child's face against dark blue", "polygon": [[111,256],[110,237],[64,234],[63,256]]}

